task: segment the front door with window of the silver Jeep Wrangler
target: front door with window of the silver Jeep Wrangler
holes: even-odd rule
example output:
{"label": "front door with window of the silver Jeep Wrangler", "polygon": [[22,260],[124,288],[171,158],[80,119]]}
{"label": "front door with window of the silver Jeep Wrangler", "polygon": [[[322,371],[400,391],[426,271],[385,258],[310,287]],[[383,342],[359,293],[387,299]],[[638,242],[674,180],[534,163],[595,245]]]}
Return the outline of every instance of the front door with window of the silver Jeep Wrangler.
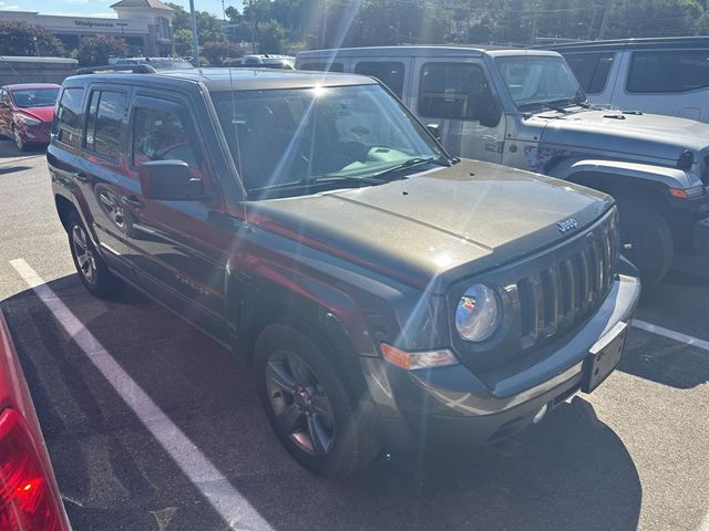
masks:
{"label": "front door with window of the silver Jeep Wrangler", "polygon": [[411,93],[410,108],[440,126],[451,155],[502,162],[502,104],[480,59],[417,58]]}

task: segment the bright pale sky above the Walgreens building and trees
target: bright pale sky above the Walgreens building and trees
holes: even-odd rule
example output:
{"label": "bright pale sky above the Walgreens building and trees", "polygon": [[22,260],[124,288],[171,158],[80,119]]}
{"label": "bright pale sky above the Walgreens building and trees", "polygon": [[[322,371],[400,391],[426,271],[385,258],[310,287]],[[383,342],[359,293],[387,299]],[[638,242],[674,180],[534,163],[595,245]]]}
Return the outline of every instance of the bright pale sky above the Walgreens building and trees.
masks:
{"label": "bright pale sky above the Walgreens building and trees", "polygon": [[[111,4],[119,0],[0,0],[0,10],[39,11],[42,14],[70,14],[80,17],[115,17]],[[189,0],[168,0],[189,9]],[[242,8],[240,0],[224,0],[224,6]],[[59,9],[58,9],[59,8]],[[197,11],[209,11],[222,17],[222,0],[195,0]]]}

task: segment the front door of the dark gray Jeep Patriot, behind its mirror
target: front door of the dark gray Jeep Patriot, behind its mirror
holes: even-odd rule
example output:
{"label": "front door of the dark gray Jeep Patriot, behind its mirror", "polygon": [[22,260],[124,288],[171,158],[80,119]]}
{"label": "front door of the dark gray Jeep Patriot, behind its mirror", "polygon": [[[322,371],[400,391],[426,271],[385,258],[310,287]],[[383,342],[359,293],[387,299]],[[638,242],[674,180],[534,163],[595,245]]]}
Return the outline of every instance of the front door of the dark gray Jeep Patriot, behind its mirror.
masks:
{"label": "front door of the dark gray Jeep Patriot, behind its mirror", "polygon": [[218,228],[224,202],[187,98],[140,93],[131,108],[130,173],[148,160],[183,160],[202,179],[208,199],[153,200],[140,188],[123,197],[140,283],[212,335],[223,337],[224,291],[230,236]]}

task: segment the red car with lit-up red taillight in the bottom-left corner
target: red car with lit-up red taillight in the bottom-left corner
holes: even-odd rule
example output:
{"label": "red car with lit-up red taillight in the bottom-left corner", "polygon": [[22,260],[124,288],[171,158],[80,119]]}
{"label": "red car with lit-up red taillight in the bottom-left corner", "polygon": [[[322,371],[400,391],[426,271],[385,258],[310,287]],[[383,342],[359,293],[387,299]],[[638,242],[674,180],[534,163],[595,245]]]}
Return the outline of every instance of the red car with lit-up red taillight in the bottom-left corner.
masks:
{"label": "red car with lit-up red taillight in the bottom-left corner", "polygon": [[47,445],[0,311],[0,529],[69,531]]}

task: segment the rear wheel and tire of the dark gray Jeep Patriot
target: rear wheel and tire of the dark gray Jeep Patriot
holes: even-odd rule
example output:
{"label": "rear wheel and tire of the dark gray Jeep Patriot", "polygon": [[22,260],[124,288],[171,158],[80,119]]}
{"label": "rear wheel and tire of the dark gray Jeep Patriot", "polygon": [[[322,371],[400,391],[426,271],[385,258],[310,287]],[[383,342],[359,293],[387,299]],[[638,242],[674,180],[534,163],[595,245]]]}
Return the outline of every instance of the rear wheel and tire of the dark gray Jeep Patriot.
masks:
{"label": "rear wheel and tire of the dark gray Jeep Patriot", "polygon": [[96,252],[79,214],[72,212],[66,222],[69,248],[79,278],[86,289],[100,299],[110,299],[121,287],[121,281],[106,267]]}

